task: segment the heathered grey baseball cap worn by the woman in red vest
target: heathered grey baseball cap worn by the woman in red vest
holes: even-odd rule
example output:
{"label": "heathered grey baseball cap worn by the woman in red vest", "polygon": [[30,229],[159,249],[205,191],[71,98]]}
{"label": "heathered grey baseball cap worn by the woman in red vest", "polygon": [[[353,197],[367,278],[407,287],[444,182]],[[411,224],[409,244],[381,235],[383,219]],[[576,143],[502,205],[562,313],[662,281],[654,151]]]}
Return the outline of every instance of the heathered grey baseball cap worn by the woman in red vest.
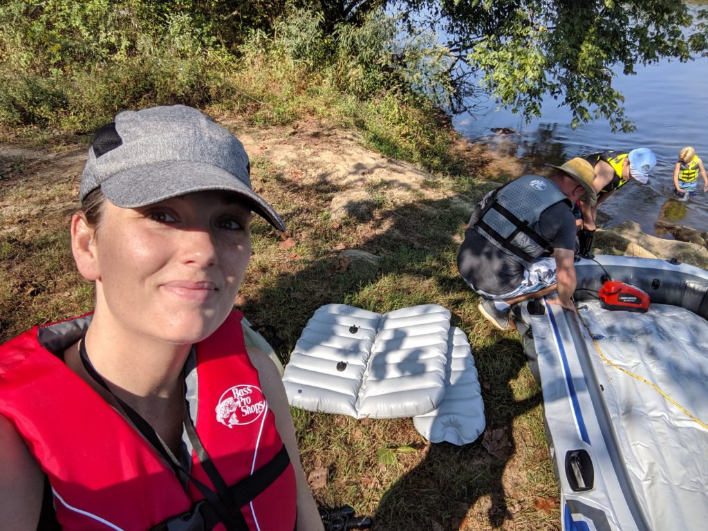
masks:
{"label": "heathered grey baseball cap worn by the woman in red vest", "polygon": [[126,110],[96,131],[79,199],[96,188],[132,208],[186,193],[226,190],[285,231],[278,212],[251,188],[249,156],[221,125],[185,105]]}

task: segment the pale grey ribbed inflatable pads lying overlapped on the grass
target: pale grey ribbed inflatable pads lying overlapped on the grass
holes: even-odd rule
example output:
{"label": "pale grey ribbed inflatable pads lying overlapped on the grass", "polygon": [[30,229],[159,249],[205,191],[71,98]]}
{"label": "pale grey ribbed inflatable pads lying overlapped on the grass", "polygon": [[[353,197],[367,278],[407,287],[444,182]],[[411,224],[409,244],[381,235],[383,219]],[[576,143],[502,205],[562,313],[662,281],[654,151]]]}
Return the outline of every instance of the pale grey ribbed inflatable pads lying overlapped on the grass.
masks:
{"label": "pale grey ribbed inflatable pads lying overlapped on the grass", "polygon": [[320,307],[290,354],[283,384],[291,406],[355,418],[414,417],[432,442],[466,444],[484,430],[467,337],[436,304],[386,314]]}

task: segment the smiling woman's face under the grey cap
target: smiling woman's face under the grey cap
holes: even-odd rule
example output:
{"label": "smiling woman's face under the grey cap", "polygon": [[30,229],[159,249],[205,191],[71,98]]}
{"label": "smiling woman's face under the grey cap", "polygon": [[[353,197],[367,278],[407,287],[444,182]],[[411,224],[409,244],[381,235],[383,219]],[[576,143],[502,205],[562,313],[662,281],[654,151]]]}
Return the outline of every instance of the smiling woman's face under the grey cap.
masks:
{"label": "smiling woman's face under the grey cap", "polygon": [[[96,314],[116,333],[191,344],[231,311],[251,256],[236,195],[190,193],[138,208],[105,201],[91,246]],[[78,261],[77,261],[78,262]]]}

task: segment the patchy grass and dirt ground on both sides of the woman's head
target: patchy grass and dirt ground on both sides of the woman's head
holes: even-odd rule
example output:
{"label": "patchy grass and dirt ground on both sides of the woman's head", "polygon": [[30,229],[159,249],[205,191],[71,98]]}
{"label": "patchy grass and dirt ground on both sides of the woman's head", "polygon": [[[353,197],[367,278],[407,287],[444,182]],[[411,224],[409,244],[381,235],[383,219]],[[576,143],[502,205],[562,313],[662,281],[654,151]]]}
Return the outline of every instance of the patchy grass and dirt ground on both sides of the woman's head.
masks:
{"label": "patchy grass and dirt ground on both sides of the woman's head", "polygon": [[[268,225],[254,223],[255,252],[239,297],[249,320],[278,329],[284,360],[322,304],[387,312],[435,303],[450,309],[452,323],[467,333],[479,370],[487,429],[464,447],[429,445],[409,418],[357,421],[293,409],[306,472],[325,478],[313,483],[317,501],[350,503],[375,516],[378,530],[559,528],[539,388],[518,336],[494,331],[481,319],[476,296],[455,268],[470,205],[490,186],[478,180],[491,177],[484,164],[464,183],[430,174],[423,188],[402,198],[383,182],[365,185],[372,198],[367,215],[333,222],[331,198],[343,186],[315,178],[326,167],[307,156],[278,164],[278,156],[262,154],[287,144],[304,126],[254,128],[240,112],[224,111],[220,118],[237,135],[255,139],[253,183],[285,217],[285,236],[292,238],[283,244]],[[308,138],[326,138],[317,149],[335,154],[350,135],[329,128],[310,133]],[[67,239],[85,149],[68,144],[3,152],[3,340],[91,308],[91,287],[76,274]],[[341,249],[375,253],[382,263],[372,275],[358,275],[338,262]]]}

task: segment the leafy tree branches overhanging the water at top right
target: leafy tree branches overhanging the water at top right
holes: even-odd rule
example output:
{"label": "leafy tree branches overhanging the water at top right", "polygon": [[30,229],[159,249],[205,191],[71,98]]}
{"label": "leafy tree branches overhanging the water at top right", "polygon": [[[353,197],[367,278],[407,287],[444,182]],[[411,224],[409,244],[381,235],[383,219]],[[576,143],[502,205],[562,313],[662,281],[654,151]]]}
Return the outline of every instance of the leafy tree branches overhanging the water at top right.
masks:
{"label": "leafy tree branches overhanging the water at top right", "polygon": [[360,23],[385,7],[403,13],[408,34],[430,31],[450,56],[455,91],[448,107],[470,110],[487,95],[525,118],[550,95],[573,113],[573,127],[605,118],[629,131],[618,74],[636,65],[706,55],[705,11],[680,0],[350,0],[310,1],[332,23]]}

